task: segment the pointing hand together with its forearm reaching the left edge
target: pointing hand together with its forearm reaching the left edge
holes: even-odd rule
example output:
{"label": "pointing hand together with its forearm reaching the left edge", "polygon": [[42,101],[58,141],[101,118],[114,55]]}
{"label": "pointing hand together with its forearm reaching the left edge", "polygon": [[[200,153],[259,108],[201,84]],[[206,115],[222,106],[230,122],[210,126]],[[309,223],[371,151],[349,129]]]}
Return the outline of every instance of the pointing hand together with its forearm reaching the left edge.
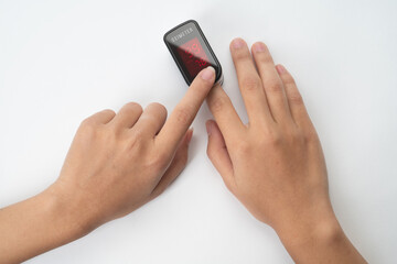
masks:
{"label": "pointing hand together with its forearm reaching the left edge", "polygon": [[76,240],[159,196],[182,172],[187,130],[214,85],[202,70],[167,119],[165,108],[127,103],[79,127],[60,178],[46,190],[0,210],[0,263],[21,263]]}

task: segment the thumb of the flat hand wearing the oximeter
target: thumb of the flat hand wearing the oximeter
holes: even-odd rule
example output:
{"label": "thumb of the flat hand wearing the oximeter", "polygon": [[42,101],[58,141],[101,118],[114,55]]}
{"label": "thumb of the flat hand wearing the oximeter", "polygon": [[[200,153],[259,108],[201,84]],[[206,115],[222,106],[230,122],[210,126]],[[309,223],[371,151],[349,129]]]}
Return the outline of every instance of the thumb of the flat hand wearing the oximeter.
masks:
{"label": "thumb of the flat hand wearing the oximeter", "polygon": [[225,144],[225,139],[214,120],[208,120],[205,123],[205,127],[208,134],[207,155],[212,164],[221,174],[226,187],[234,193],[236,182],[234,178],[232,160]]}

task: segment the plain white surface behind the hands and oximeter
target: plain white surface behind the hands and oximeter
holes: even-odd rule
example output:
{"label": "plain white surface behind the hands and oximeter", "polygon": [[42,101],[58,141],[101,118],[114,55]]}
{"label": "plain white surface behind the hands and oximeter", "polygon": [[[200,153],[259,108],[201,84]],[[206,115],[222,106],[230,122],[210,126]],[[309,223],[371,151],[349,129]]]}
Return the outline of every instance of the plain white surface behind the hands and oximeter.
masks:
{"label": "plain white surface behind the hands and oximeter", "polygon": [[[186,85],[162,36],[195,19],[245,121],[232,38],[266,42],[293,74],[342,227],[369,262],[396,263],[396,12],[393,0],[0,1],[0,207],[56,179],[92,113],[128,101],[171,111]],[[207,160],[208,118],[204,105],[189,165],[161,197],[30,263],[292,263]]]}

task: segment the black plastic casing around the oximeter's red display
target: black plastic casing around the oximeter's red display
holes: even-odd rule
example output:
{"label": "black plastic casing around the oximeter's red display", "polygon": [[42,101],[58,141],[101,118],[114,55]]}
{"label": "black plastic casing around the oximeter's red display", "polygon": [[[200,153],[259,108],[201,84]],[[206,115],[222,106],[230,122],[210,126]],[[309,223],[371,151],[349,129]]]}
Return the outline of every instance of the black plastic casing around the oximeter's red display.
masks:
{"label": "black plastic casing around the oximeter's red display", "polygon": [[[192,31],[191,31],[192,29]],[[189,32],[189,34],[185,34],[185,32]],[[195,78],[195,76],[191,76],[186,66],[184,65],[182,58],[180,57],[178,50],[179,46],[183,45],[184,43],[193,40],[194,37],[197,37],[200,44],[202,45],[205,54],[208,57],[208,63],[212,67],[214,67],[216,77],[215,77],[215,84],[223,82],[223,75],[222,75],[222,67],[216,58],[213,50],[210,46],[210,43],[205,38],[205,35],[203,31],[200,29],[200,25],[194,20],[187,20],[186,22],[183,22],[182,24],[176,25],[172,30],[168,31],[164,34],[164,43],[170,51],[173,59],[175,61],[179,69],[181,70],[181,74],[187,85],[190,86]]]}

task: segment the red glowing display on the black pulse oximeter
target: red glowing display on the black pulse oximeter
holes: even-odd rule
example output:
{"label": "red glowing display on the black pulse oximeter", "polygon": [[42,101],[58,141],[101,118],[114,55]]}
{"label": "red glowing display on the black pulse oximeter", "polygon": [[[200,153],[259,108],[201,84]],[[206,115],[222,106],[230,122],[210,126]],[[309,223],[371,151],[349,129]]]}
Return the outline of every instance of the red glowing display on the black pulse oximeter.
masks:
{"label": "red glowing display on the black pulse oximeter", "polygon": [[208,57],[197,37],[182,44],[178,52],[192,77],[195,77],[200,70],[210,66]]}

